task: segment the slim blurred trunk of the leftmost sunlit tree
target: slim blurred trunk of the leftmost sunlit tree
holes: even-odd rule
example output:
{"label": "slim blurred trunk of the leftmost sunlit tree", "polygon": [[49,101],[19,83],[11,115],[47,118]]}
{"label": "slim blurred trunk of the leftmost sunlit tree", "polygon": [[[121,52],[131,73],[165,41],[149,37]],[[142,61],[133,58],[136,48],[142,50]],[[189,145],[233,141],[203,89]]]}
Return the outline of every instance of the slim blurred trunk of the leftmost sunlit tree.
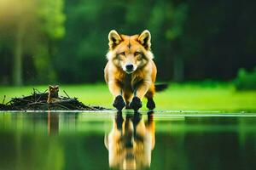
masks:
{"label": "slim blurred trunk of the leftmost sunlit tree", "polygon": [[22,85],[22,39],[24,37],[25,25],[22,20],[18,22],[15,35],[13,83],[15,86]]}

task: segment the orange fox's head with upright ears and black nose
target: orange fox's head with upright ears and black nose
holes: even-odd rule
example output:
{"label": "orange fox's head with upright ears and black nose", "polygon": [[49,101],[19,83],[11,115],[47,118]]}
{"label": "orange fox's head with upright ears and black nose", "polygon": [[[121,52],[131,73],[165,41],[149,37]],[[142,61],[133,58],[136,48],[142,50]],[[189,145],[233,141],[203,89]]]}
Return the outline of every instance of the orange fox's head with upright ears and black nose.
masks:
{"label": "orange fox's head with upright ears and black nose", "polygon": [[148,30],[134,36],[120,35],[112,30],[108,34],[107,58],[113,62],[113,65],[131,74],[154,58],[150,50],[150,40],[151,35]]}

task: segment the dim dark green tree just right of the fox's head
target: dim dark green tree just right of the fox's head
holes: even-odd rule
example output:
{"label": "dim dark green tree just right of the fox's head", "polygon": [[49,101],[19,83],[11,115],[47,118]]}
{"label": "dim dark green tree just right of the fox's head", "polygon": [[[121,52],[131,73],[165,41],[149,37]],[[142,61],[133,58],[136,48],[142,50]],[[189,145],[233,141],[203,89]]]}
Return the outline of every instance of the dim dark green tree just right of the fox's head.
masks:
{"label": "dim dark green tree just right of the fox's head", "polygon": [[[161,56],[164,57],[163,65],[166,68],[164,77],[171,77],[177,82],[183,81],[184,77],[184,56],[181,54],[183,37],[183,26],[187,19],[188,3],[175,3],[175,1],[158,2],[154,5],[148,26],[154,35],[159,35],[158,39],[164,46]],[[165,42],[165,43],[164,43]]]}

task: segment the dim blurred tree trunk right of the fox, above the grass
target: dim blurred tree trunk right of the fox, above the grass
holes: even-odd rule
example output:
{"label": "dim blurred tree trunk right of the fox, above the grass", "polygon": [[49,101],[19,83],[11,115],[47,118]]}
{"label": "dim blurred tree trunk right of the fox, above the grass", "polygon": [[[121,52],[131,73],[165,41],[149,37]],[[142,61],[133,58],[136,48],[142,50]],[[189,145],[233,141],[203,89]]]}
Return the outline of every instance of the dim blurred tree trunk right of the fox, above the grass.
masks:
{"label": "dim blurred tree trunk right of the fox, above the grass", "polygon": [[184,79],[184,61],[182,57],[173,56],[173,80],[183,82]]}

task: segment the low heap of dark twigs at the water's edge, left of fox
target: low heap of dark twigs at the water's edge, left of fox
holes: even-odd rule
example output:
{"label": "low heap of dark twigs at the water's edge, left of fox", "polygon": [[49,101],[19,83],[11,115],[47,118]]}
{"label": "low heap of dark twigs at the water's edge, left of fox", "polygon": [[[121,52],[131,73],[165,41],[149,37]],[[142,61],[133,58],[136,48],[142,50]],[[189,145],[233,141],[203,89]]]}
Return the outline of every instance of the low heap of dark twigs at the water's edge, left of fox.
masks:
{"label": "low heap of dark twigs at the water's edge, left of fox", "polygon": [[[64,91],[67,95],[67,93]],[[0,111],[102,111],[106,110],[101,106],[84,105],[78,98],[58,96],[53,102],[47,102],[49,92],[43,93],[37,89],[29,96],[13,98],[6,104],[0,104]],[[5,98],[4,98],[5,99]],[[3,99],[3,103],[4,103]]]}

